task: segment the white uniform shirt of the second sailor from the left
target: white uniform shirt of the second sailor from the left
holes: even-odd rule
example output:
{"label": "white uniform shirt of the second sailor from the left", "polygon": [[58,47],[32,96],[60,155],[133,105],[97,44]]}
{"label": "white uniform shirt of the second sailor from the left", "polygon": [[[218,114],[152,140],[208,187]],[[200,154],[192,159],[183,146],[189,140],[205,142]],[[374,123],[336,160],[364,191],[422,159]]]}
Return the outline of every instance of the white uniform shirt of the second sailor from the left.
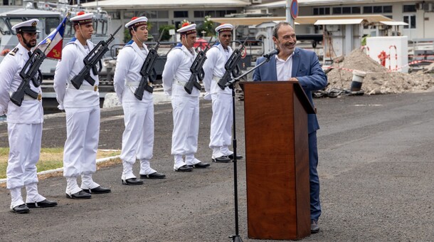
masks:
{"label": "white uniform shirt of the second sailor from the left", "polygon": [[[87,41],[88,48],[85,48],[78,39],[73,38],[73,40],[75,41],[71,41],[63,48],[62,60],[55,67],[54,90],[61,110],[64,107],[94,107],[100,105],[98,90],[77,90],[70,84],[70,80],[85,67],[83,59],[94,47],[90,41]],[[90,76],[95,80],[95,85],[99,85],[98,75],[93,75],[93,71],[90,70]],[[87,80],[83,80],[82,85],[91,88]]]}

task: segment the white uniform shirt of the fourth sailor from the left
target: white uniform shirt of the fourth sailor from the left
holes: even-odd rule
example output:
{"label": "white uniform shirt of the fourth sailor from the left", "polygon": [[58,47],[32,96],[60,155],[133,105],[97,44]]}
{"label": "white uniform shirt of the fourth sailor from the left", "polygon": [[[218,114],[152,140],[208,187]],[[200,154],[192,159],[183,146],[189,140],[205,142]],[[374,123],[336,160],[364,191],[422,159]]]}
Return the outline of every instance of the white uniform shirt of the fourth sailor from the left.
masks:
{"label": "white uniform shirt of the fourth sailor from the left", "polygon": [[184,45],[178,44],[167,55],[162,75],[166,95],[199,97],[200,91],[197,88],[193,88],[191,94],[184,89],[191,76],[191,64],[197,56],[193,48],[191,51],[192,53]]}

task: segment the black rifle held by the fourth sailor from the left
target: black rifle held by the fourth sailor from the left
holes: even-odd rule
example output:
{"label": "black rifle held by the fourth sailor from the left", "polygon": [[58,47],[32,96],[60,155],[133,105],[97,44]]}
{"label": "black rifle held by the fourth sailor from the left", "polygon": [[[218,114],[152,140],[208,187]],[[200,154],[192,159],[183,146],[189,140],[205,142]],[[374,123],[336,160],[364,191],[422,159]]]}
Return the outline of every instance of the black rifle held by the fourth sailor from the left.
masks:
{"label": "black rifle held by the fourth sailor from the left", "polygon": [[[212,39],[213,38],[211,37],[211,39],[209,40],[209,43],[211,43]],[[199,51],[196,58],[194,59],[193,64],[191,64],[190,79],[186,83],[186,85],[184,85],[184,89],[189,94],[191,94],[191,90],[193,90],[193,87],[195,87],[199,90],[201,90],[201,88],[202,88],[201,84],[197,81],[197,79],[203,80],[203,78],[205,77],[205,73],[203,72],[202,66],[203,66],[203,63],[205,63],[205,61],[206,61],[206,51],[208,51],[208,50],[209,50],[209,44],[206,45],[205,50]]]}

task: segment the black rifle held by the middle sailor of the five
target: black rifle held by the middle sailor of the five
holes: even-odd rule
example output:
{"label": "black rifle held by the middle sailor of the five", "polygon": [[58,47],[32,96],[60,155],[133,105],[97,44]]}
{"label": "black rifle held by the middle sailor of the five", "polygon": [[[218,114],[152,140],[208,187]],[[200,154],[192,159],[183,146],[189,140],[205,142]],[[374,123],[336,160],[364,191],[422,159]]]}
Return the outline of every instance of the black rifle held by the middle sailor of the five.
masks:
{"label": "black rifle held by the middle sailor of the five", "polygon": [[142,75],[142,79],[140,80],[140,84],[137,87],[136,91],[134,92],[134,96],[138,100],[142,100],[144,90],[147,90],[148,93],[154,92],[154,88],[148,85],[148,78],[149,78],[149,82],[151,83],[154,83],[155,79],[157,78],[154,65],[157,62],[157,58],[158,58],[157,51],[160,46],[160,41],[162,40],[163,33],[164,30],[162,31],[162,33],[160,33],[160,37],[157,43],[155,44],[154,48],[149,50],[146,60],[144,60],[142,68],[140,69],[140,75]]}

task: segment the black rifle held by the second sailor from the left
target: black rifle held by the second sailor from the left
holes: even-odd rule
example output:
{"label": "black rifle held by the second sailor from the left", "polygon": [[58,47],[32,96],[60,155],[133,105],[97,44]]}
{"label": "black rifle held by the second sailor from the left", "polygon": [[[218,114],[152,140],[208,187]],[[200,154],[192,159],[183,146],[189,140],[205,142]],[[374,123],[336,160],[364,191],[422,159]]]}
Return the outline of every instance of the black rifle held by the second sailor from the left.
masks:
{"label": "black rifle held by the second sailor from the left", "polygon": [[83,62],[85,63],[85,67],[80,70],[80,73],[78,75],[75,75],[73,80],[71,80],[71,83],[73,84],[74,88],[80,89],[80,86],[83,84],[83,80],[87,80],[90,85],[95,85],[95,80],[90,76],[90,70],[92,70],[93,75],[97,75],[99,70],[97,70],[97,64],[100,64],[100,70],[102,68],[101,66],[101,59],[104,57],[105,53],[109,50],[109,44],[115,39],[115,34],[117,31],[122,28],[122,25],[117,28],[115,33],[112,33],[110,35],[110,38],[107,39],[107,41],[100,41],[100,43],[95,46],[95,48],[92,48],[92,51],[88,53],[88,56],[85,57]]}

